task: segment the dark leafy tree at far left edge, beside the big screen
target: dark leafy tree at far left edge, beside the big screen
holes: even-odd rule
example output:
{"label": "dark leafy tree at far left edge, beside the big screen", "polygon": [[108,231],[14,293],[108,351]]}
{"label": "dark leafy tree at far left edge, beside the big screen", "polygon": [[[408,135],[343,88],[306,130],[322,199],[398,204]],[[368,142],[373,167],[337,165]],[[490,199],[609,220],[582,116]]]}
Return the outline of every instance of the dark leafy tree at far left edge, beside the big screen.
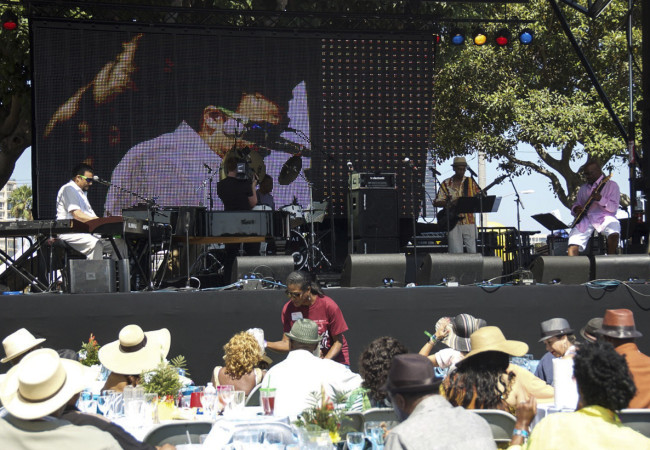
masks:
{"label": "dark leafy tree at far left edge, beside the big screen", "polygon": [[0,30],[0,186],[14,171],[16,161],[32,145],[29,36],[20,3],[0,5],[0,15],[11,9],[16,30]]}

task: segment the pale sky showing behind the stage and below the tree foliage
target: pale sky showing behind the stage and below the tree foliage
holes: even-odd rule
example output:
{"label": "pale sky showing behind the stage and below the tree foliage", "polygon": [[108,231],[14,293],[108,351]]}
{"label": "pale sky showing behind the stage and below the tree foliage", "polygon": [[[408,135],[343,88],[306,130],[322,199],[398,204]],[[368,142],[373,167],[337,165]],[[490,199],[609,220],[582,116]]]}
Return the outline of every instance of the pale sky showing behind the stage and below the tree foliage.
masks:
{"label": "pale sky showing behind the stage and below the tree foliage", "polygon": [[[32,182],[32,160],[31,148],[25,150],[16,163],[16,169],[11,179],[16,180],[18,184],[31,184]],[[534,160],[536,153],[532,147],[520,145],[518,156],[522,159]],[[468,165],[478,172],[478,156],[468,155]],[[576,161],[572,164],[574,170],[580,167],[584,161]],[[630,183],[628,181],[628,166],[620,158],[617,159],[617,169],[613,173],[612,179],[616,181],[621,189],[621,193],[630,194]],[[451,160],[445,161],[438,166],[441,173],[440,181],[453,175],[451,170]],[[497,171],[497,163],[490,162],[486,167],[487,184],[491,183],[500,172]],[[427,170],[427,180],[431,178],[431,172]],[[513,183],[520,193],[521,202],[524,208],[520,209],[521,230],[522,231],[540,231],[548,234],[549,231],[540,225],[535,219],[531,218],[534,214],[548,213],[553,210],[560,211],[560,217],[564,223],[570,223],[572,218],[569,210],[553,195],[547,178],[542,175],[532,174],[520,177],[513,177]],[[530,194],[522,194],[524,191],[534,191]],[[497,222],[507,227],[517,227],[517,206],[515,201],[514,189],[510,180],[506,178],[501,184],[490,189],[489,194],[502,197],[499,211],[491,213],[488,216],[490,222]],[[430,208],[430,203],[427,205]]]}

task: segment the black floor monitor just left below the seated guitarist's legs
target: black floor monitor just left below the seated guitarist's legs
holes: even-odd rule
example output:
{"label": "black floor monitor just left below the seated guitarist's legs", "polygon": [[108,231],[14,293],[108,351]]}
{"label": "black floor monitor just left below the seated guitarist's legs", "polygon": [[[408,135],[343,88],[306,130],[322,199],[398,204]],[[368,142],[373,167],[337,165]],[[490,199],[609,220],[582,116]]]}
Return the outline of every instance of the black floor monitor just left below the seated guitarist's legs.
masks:
{"label": "black floor monitor just left below the seated guitarist's legs", "polygon": [[590,268],[588,256],[538,256],[530,264],[536,283],[583,284]]}

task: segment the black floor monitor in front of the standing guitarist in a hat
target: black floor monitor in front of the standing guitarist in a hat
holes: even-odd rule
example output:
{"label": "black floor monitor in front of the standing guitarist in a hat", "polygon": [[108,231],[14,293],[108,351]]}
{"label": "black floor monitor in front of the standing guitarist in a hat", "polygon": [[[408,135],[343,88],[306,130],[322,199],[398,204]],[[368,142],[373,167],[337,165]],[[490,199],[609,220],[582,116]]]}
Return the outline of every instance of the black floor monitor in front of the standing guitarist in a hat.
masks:
{"label": "black floor monitor in front of the standing guitarist in a hat", "polygon": [[457,281],[464,285],[483,281],[483,278],[483,255],[478,253],[428,253],[424,257],[424,263],[418,271],[416,280],[419,285],[442,284],[445,280]]}

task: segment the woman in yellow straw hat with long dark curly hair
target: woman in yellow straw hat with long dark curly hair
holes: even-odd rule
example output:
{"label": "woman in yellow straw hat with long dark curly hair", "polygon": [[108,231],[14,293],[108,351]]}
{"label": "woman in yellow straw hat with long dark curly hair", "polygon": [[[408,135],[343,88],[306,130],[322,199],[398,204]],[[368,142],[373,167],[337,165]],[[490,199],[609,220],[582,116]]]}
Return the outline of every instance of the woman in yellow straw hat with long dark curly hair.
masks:
{"label": "woman in yellow straw hat with long dark curly hair", "polygon": [[498,327],[483,327],[471,337],[472,351],[456,365],[441,386],[452,405],[468,409],[502,409],[514,412],[517,403],[531,395],[552,402],[554,391],[528,370],[510,364],[510,356],[523,356],[528,344],[506,340]]}

